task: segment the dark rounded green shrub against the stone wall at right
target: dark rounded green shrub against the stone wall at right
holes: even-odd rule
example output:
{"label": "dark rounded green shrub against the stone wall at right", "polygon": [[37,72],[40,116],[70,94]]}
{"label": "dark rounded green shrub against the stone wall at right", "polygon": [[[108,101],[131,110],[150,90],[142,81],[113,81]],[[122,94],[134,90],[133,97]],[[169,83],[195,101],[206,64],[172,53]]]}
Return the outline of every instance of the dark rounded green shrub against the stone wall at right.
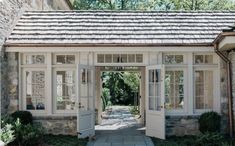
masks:
{"label": "dark rounded green shrub against the stone wall at right", "polygon": [[203,113],[199,118],[199,130],[205,132],[219,132],[221,117],[216,112]]}

